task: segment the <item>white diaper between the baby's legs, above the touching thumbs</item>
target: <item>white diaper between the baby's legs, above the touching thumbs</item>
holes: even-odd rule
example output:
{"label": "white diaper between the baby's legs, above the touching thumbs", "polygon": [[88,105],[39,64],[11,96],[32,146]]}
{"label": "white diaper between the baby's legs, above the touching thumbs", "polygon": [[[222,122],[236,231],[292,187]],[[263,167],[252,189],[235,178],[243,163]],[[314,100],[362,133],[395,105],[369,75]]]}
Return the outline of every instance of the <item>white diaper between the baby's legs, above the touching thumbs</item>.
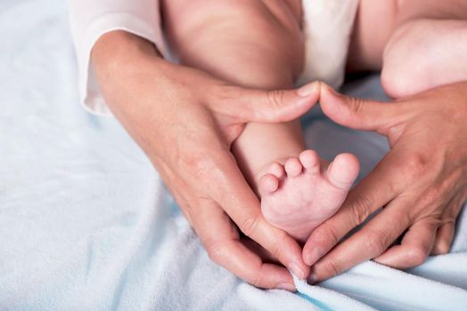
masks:
{"label": "white diaper between the baby's legs, above the touching thumbs", "polygon": [[298,84],[320,80],[339,88],[358,0],[302,0],[302,6],[305,66]]}

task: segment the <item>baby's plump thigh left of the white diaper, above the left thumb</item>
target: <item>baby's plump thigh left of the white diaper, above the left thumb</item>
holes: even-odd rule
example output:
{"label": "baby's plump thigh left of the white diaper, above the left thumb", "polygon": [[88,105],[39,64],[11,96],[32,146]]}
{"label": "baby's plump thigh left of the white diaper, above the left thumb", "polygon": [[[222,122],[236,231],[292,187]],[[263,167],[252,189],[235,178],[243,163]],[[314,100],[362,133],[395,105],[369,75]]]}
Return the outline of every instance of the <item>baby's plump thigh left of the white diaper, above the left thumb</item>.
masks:
{"label": "baby's plump thigh left of the white diaper, above the left thumb", "polygon": [[163,10],[185,65],[260,88],[290,87],[301,72],[299,0],[167,0]]}

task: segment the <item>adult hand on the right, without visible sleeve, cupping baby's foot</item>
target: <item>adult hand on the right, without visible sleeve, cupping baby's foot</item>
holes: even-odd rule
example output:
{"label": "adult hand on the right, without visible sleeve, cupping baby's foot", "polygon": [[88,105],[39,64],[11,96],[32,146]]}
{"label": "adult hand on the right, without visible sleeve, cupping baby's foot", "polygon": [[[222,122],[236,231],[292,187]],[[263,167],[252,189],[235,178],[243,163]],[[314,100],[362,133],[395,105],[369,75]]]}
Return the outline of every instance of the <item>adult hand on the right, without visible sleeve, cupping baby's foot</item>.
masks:
{"label": "adult hand on the right, without visible sleeve, cupping baby's foot", "polygon": [[[429,254],[449,251],[455,219],[467,199],[467,83],[392,103],[356,100],[322,86],[320,103],[338,124],[385,135],[390,151],[349,193],[340,211],[309,236],[303,258],[315,265],[310,281],[366,259],[404,269],[422,264]],[[391,246],[399,236],[401,243]]]}

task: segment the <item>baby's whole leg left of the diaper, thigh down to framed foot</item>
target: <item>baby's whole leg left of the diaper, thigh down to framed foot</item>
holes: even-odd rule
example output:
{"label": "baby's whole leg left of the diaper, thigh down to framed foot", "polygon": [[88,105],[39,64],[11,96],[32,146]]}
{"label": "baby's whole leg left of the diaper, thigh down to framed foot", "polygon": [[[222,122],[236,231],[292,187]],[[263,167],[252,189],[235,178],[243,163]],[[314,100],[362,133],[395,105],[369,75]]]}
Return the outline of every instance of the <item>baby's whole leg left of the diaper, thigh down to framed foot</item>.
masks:
{"label": "baby's whole leg left of the diaper, thigh down to framed foot", "polygon": [[[300,0],[167,0],[162,7],[169,43],[184,65],[265,90],[292,88],[299,77]],[[328,163],[307,150],[298,120],[248,124],[233,155],[266,220],[301,243],[339,210],[359,170],[355,156]]]}

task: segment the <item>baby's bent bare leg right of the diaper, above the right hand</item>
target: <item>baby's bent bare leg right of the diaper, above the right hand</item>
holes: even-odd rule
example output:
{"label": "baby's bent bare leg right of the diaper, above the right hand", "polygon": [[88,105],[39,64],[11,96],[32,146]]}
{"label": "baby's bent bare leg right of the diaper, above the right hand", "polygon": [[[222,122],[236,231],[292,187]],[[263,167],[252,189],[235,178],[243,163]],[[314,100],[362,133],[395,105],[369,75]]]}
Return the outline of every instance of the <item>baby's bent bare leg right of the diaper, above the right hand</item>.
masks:
{"label": "baby's bent bare leg right of the diaper, above the right hand", "polygon": [[382,68],[389,96],[467,80],[466,54],[465,0],[360,0],[348,67]]}

